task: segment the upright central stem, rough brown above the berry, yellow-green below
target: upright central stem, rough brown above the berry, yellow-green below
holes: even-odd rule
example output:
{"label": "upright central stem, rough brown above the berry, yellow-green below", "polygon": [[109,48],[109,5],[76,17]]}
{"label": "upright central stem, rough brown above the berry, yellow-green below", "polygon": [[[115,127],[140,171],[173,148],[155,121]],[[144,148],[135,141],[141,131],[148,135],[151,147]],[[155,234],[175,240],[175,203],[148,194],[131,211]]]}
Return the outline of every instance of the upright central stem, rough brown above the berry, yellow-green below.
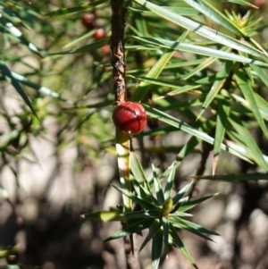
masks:
{"label": "upright central stem, rough brown above the berry, yellow-green below", "polygon": [[[112,36],[110,39],[112,50],[113,66],[113,92],[114,105],[120,105],[127,100],[127,91],[125,85],[126,64],[124,58],[124,29],[125,14],[127,9],[123,6],[123,0],[111,0],[112,8]],[[121,188],[131,192],[130,183],[130,136],[116,130],[116,152],[118,168],[120,173]],[[130,198],[123,197],[125,211],[131,211],[132,202]],[[134,255],[133,235],[125,238],[125,254],[127,258],[128,269],[139,269],[138,257]]]}

